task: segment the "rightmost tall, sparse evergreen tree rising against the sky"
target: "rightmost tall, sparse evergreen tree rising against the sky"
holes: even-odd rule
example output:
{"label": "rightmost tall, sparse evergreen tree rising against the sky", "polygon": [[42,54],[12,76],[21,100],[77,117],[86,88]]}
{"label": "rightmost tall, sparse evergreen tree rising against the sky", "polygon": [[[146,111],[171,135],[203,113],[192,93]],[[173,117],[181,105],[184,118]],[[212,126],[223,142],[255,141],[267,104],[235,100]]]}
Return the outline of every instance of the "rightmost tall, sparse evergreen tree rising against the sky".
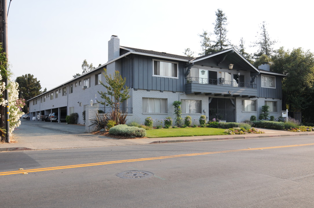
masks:
{"label": "rightmost tall, sparse evergreen tree rising against the sky", "polygon": [[262,23],[261,32],[259,38],[256,42],[253,43],[254,47],[258,47],[256,53],[254,53],[254,58],[258,59],[261,55],[265,54],[268,57],[271,57],[273,54],[273,45],[276,44],[276,40],[271,40],[269,34],[266,30],[265,21]]}

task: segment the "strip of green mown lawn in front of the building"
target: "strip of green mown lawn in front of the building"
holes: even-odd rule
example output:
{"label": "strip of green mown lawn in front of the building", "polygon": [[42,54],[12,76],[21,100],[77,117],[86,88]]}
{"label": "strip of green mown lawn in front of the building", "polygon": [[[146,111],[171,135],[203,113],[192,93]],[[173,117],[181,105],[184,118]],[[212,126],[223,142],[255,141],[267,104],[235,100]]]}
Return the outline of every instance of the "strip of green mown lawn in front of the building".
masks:
{"label": "strip of green mown lawn in front of the building", "polygon": [[191,137],[191,136],[209,136],[209,135],[226,135],[225,129],[222,128],[162,128],[146,130],[146,137]]}

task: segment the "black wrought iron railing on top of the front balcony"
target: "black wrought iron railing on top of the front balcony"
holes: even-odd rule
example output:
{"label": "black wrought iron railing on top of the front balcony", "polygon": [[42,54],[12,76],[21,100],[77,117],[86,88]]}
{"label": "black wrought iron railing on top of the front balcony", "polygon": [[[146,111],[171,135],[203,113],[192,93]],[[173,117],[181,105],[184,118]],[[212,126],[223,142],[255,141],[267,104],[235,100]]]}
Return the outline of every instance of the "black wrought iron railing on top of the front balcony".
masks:
{"label": "black wrought iron railing on top of the front balcony", "polygon": [[238,81],[226,81],[223,78],[217,79],[207,79],[199,77],[187,77],[186,83],[198,83],[198,84],[207,84],[207,85],[218,85],[218,86],[232,86],[232,87],[244,87],[256,89],[256,84],[238,82]]}

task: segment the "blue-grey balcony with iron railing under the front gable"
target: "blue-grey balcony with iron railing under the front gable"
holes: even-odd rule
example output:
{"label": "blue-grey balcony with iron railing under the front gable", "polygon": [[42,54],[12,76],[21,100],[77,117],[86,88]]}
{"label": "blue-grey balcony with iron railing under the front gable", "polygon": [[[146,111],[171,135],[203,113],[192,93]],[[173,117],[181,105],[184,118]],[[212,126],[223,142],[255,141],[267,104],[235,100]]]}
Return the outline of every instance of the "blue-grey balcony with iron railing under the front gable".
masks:
{"label": "blue-grey balcony with iron railing under the front gable", "polygon": [[223,78],[208,79],[199,77],[186,78],[186,94],[204,94],[214,96],[249,97],[257,96],[257,85],[246,82],[225,81]]}

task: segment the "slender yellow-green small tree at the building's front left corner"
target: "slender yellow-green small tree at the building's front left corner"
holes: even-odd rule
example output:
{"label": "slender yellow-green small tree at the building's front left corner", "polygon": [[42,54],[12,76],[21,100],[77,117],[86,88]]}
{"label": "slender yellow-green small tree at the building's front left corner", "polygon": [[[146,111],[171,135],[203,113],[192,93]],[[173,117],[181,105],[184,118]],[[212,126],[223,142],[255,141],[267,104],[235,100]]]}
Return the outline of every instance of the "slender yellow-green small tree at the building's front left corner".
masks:
{"label": "slender yellow-green small tree at the building's front left corner", "polygon": [[[130,89],[125,86],[127,81],[126,78],[122,78],[118,71],[115,71],[114,75],[107,75],[107,69],[104,69],[104,75],[106,79],[106,83],[100,81],[100,84],[106,88],[106,91],[98,91],[100,97],[105,101],[98,101],[98,103],[106,106],[110,106],[111,111],[111,119],[116,121],[116,124],[124,124],[120,123],[121,112],[120,105],[123,101],[129,99],[131,96],[129,95]],[[124,116],[125,117],[125,116]],[[124,119],[125,120],[125,119]],[[125,120],[126,121],[126,120]]]}

